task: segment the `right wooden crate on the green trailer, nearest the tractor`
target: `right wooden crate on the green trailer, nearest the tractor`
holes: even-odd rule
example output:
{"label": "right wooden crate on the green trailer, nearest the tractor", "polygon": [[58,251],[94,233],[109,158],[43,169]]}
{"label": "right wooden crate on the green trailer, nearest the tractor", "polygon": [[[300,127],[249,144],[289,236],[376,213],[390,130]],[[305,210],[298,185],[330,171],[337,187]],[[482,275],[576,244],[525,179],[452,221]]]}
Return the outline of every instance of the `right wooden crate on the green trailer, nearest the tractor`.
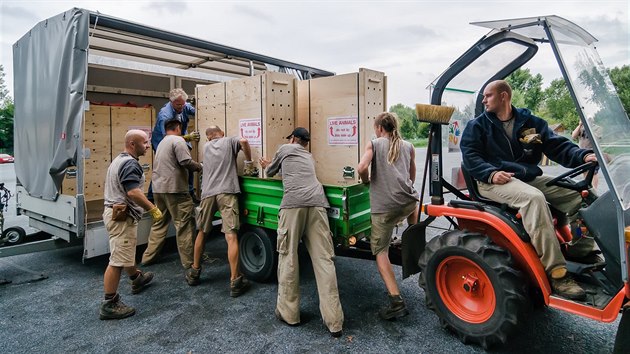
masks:
{"label": "right wooden crate on the green trailer, nearest the tractor", "polygon": [[296,120],[311,133],[317,178],[331,185],[359,183],[356,172],[344,175],[344,167],[356,170],[365,145],[374,138],[374,119],[387,110],[385,74],[360,69],[297,87]]}

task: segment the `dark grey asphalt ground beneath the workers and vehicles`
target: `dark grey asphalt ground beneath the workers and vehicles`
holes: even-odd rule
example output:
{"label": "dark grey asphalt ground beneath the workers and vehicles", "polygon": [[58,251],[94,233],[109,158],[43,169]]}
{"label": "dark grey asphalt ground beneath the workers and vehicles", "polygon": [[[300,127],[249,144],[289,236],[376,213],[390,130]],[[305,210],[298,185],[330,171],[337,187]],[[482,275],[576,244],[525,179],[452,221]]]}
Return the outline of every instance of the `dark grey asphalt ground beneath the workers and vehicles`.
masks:
{"label": "dark grey asphalt ground beneath the workers and vehicles", "polygon": [[[440,230],[430,232],[436,235]],[[140,247],[138,255],[142,251]],[[98,319],[106,256],[83,264],[82,250],[69,248],[0,258],[0,278],[11,281],[0,285],[0,353],[484,351],[462,344],[442,329],[437,316],[425,307],[418,276],[400,280],[399,267],[394,269],[410,315],[383,321],[377,312],[387,298],[375,262],[337,257],[345,324],[343,336],[335,339],[321,322],[306,254],[300,263],[303,324],[289,327],[274,317],[274,282],[253,283],[248,293],[231,298],[223,237],[209,237],[206,252],[210,260],[203,265],[202,283],[189,287],[174,240],[169,240],[160,262],[145,268],[156,273],[148,289],[131,295],[130,285],[121,281],[122,299],[137,313],[118,321]],[[506,346],[494,352],[609,353],[617,325],[618,320],[604,324],[539,308],[528,314]]]}

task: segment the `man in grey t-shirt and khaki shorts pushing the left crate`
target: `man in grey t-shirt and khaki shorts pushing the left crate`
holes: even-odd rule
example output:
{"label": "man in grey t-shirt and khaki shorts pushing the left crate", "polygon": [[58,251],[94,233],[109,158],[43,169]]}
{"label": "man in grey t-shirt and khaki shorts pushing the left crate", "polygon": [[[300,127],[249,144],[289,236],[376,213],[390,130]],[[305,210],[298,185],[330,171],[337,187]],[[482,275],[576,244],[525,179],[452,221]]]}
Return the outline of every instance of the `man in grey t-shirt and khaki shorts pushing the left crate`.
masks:
{"label": "man in grey t-shirt and khaki shorts pushing the left crate", "polygon": [[237,297],[249,288],[249,282],[238,271],[238,185],[236,157],[243,150],[245,170],[253,167],[249,142],[245,138],[224,137],[221,128],[213,125],[206,129],[208,142],[203,147],[203,178],[201,181],[201,211],[197,216],[197,239],[195,240],[194,261],[186,273],[188,285],[199,284],[201,276],[201,256],[205,245],[205,235],[212,229],[212,217],[221,212],[221,232],[228,244],[230,263],[230,296]]}

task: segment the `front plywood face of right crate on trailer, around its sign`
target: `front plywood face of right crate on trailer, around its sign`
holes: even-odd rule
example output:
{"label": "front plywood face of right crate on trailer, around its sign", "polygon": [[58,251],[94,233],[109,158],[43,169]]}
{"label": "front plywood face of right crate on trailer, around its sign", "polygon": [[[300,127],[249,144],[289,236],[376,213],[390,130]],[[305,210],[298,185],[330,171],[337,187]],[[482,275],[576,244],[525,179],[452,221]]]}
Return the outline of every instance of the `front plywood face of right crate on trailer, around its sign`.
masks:
{"label": "front plywood face of right crate on trailer, around its sign", "polygon": [[[358,182],[344,178],[344,166],[356,168],[360,147],[329,144],[329,118],[358,118],[357,73],[313,79],[310,81],[311,153],[315,159],[315,172],[324,184],[347,185]],[[359,127],[360,129],[360,127]]]}

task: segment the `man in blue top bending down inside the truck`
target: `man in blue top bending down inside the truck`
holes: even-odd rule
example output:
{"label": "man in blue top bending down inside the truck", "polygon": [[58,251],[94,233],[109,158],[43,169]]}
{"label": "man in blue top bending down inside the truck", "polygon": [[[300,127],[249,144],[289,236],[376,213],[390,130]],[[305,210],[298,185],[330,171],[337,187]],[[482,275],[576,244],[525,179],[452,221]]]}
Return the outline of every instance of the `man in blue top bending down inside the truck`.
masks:
{"label": "man in blue top bending down inside the truck", "polygon": [[[151,147],[153,151],[157,151],[158,146],[166,136],[166,129],[164,124],[171,119],[177,119],[182,123],[182,131],[184,140],[189,150],[192,150],[192,141],[199,141],[199,132],[191,132],[188,134],[188,122],[190,116],[194,116],[196,111],[190,103],[186,102],[188,95],[186,91],[181,88],[174,88],[168,94],[169,101],[160,109],[155,120],[155,126],[151,133]],[[193,174],[188,176],[188,191],[195,200],[194,187],[193,187]],[[149,198],[153,198],[153,183],[149,186]]]}

